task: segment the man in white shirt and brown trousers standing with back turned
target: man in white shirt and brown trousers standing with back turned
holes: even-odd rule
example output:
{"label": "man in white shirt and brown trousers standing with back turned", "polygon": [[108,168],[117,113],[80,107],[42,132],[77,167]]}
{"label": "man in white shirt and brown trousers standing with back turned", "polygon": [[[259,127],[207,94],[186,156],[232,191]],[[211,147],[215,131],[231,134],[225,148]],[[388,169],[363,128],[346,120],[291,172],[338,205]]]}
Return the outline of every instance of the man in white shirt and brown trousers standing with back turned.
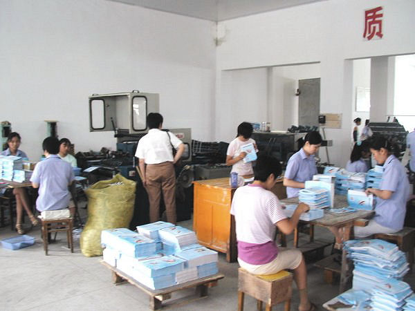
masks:
{"label": "man in white shirt and brown trousers standing with back turned", "polygon": [[[185,145],[176,135],[161,131],[163,116],[160,113],[149,113],[147,125],[149,133],[138,141],[136,158],[139,158],[137,170],[149,195],[150,223],[160,220],[160,194],[163,191],[167,221],[176,224],[174,164],[180,160]],[[175,156],[172,147],[177,150]]]}

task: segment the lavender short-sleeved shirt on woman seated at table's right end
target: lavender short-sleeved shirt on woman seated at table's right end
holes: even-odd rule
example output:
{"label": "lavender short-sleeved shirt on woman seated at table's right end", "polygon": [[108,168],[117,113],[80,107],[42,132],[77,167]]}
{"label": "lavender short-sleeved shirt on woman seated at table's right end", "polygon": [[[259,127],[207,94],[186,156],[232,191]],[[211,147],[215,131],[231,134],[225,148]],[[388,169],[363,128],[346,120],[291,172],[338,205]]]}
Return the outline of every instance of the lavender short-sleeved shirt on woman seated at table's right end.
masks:
{"label": "lavender short-sleeved shirt on woman seated at table's right end", "polygon": [[384,227],[400,230],[405,220],[409,181],[405,168],[395,156],[389,156],[383,167],[385,171],[379,189],[394,191],[394,193],[387,200],[376,197],[374,220]]}

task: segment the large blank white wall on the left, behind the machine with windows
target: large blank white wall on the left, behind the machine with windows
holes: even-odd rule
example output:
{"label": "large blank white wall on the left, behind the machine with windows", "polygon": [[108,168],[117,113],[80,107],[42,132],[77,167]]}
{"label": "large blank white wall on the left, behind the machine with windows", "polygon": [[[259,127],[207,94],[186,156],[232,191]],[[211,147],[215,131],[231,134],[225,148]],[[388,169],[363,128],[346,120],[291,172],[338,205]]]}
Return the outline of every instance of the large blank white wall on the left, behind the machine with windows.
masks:
{"label": "large blank white wall on the left, behind the machine with windows", "polygon": [[160,93],[165,127],[212,140],[215,23],[103,0],[0,0],[1,120],[42,154],[44,120],[75,151],[115,149],[113,133],[89,132],[88,97]]}

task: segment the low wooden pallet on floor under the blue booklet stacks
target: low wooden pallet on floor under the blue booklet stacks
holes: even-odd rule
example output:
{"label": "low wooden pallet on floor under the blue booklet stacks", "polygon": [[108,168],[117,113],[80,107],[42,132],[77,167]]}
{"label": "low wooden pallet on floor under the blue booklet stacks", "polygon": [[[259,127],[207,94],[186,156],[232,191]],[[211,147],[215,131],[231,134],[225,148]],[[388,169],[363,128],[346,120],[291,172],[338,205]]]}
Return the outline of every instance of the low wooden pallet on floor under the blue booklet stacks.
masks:
{"label": "low wooden pallet on floor under the blue booklet stacks", "polygon": [[[109,270],[111,270],[112,280],[115,285],[120,285],[127,281],[139,288],[140,290],[142,290],[142,292],[145,292],[147,295],[149,295],[150,310],[159,310],[163,308],[163,301],[171,299],[173,292],[178,292],[179,290],[185,290],[187,288],[196,289],[196,299],[205,298],[206,296],[208,296],[208,289],[216,286],[218,281],[225,277],[223,274],[218,273],[212,276],[206,276],[203,279],[197,279],[194,281],[174,285],[169,288],[163,288],[161,290],[151,290],[151,288],[147,288],[147,286],[142,285],[142,283],[139,283],[135,279],[131,278],[131,276],[125,274],[124,272],[121,272],[116,267],[109,265],[105,261],[100,262],[102,263],[102,265],[108,267]],[[195,299],[187,299],[186,302],[194,300]],[[183,299],[178,299],[178,301],[183,301]],[[178,301],[172,301],[172,303],[177,303]]]}

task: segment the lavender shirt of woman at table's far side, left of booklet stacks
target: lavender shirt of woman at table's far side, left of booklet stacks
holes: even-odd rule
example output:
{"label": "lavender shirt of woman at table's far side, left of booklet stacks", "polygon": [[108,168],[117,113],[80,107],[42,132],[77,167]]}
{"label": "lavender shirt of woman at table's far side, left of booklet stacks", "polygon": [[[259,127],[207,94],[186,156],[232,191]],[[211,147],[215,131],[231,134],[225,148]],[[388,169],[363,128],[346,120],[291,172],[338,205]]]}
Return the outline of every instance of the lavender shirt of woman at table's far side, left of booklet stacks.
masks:
{"label": "lavender shirt of woman at table's far side, left of booklet stacks", "polygon": [[[302,148],[288,160],[284,178],[296,182],[306,182],[312,180],[315,174],[317,174],[317,167],[315,166],[314,155],[307,156]],[[287,187],[287,198],[298,196],[299,190],[299,188]]]}

